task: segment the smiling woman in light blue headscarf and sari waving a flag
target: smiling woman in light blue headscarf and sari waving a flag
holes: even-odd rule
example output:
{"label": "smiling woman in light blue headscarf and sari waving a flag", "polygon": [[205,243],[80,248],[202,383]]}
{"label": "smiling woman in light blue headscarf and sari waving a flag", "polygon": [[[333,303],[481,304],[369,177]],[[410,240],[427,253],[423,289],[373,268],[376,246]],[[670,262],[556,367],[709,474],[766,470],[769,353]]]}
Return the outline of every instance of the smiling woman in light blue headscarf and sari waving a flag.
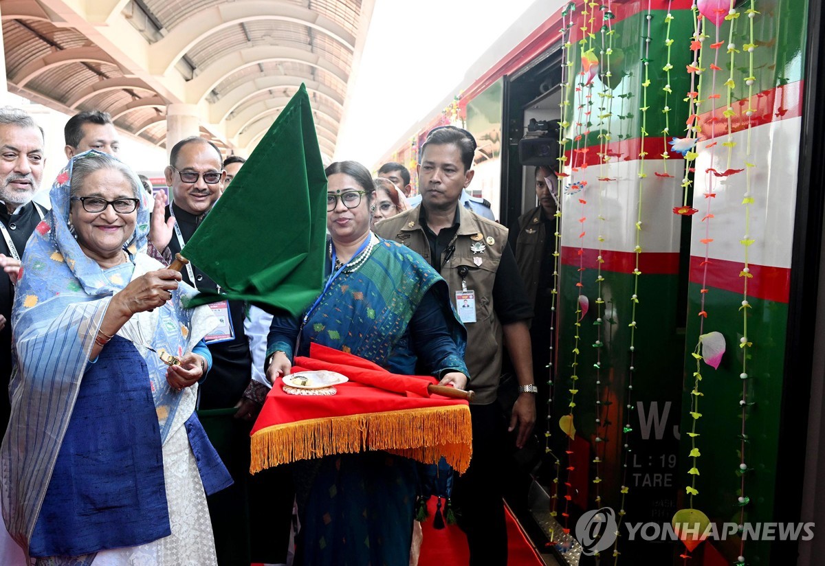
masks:
{"label": "smiling woman in light blue headscarf and sari waving a flag", "polygon": [[50,198],[12,310],[3,519],[36,564],[215,564],[205,493],[231,479],[194,411],[216,320],[145,254],[129,167],[82,153]]}

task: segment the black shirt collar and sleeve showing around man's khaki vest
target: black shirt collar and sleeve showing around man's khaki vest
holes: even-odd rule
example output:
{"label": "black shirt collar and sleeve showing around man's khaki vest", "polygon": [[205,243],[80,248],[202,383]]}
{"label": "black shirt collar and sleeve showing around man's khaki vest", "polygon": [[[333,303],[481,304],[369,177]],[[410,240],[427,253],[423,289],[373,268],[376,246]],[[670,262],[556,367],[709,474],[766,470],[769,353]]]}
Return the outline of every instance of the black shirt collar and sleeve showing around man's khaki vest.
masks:
{"label": "black shirt collar and sleeve showing around man's khaki vest", "polygon": [[[450,246],[453,245],[455,233],[459,229],[458,207],[455,208],[453,225],[449,228],[441,228],[437,235],[427,226],[427,209],[423,205],[418,220],[424,228],[427,242],[430,245],[431,265],[441,273],[439,263],[446,263],[446,260],[450,259]],[[445,253],[444,260],[441,260],[442,253]],[[509,244],[505,245],[502,250],[502,259],[498,264],[496,280],[493,282],[493,308],[502,325],[530,320],[533,317],[533,308],[527,299],[524,282],[521,280],[518,264],[516,264],[516,256],[513,255]]]}

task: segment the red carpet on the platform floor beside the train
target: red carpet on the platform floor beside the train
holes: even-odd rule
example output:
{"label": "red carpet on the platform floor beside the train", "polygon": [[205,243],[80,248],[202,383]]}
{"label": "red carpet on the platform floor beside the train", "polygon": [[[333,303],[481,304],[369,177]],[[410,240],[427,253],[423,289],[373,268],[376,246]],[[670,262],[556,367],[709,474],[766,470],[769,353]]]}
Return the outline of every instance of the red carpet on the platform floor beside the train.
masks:
{"label": "red carpet on the platform floor beside the train", "polygon": [[[436,512],[436,498],[430,498],[427,502],[427,510],[430,512],[430,517],[422,523],[424,542],[421,545],[421,558],[418,559],[418,566],[468,564],[467,537],[461,529],[456,525],[447,525],[439,531],[432,528],[432,517]],[[521,528],[507,508],[505,508],[505,517],[507,517],[507,564],[510,566],[543,566],[544,562],[535,554],[530,541],[521,532]]]}

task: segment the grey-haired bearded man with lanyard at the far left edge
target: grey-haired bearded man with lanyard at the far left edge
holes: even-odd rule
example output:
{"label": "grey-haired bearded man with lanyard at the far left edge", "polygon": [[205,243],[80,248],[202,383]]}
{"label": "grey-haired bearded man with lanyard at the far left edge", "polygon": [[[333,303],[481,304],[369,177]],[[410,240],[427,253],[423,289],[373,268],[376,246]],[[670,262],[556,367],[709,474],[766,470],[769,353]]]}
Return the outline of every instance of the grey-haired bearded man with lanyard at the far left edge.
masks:
{"label": "grey-haired bearded man with lanyard at the far left edge", "polygon": [[[0,383],[4,390],[0,426],[5,433],[11,413],[8,381],[12,376],[14,285],[26,241],[46,212],[31,199],[43,179],[43,130],[22,110],[0,108],[0,147]],[[0,529],[0,564],[28,564],[6,527]]]}

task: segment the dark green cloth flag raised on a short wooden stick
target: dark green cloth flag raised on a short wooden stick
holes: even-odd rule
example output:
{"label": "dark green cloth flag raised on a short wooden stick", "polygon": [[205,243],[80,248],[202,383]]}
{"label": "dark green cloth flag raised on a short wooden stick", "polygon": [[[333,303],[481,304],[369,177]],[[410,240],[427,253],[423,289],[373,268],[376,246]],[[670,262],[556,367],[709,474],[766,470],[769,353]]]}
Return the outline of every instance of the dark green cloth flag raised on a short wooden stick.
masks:
{"label": "dark green cloth flag raised on a short wooden stick", "polygon": [[238,299],[299,316],[323,289],[326,195],[301,85],[181,250],[223,292],[189,306]]}

